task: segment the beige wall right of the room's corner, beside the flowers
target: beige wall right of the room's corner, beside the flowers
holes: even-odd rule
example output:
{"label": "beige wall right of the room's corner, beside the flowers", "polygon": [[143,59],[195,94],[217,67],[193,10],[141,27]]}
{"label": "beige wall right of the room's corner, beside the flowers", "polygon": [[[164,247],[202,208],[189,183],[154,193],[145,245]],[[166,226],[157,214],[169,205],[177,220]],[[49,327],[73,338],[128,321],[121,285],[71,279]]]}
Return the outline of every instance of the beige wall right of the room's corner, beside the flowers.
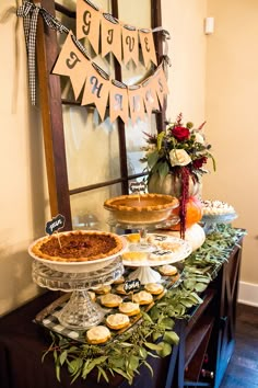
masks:
{"label": "beige wall right of the room's corner, beside the flowers", "polygon": [[208,0],[215,31],[208,36],[206,113],[218,172],[206,180],[206,197],[230,202],[246,228],[243,282],[258,284],[257,141],[258,2]]}

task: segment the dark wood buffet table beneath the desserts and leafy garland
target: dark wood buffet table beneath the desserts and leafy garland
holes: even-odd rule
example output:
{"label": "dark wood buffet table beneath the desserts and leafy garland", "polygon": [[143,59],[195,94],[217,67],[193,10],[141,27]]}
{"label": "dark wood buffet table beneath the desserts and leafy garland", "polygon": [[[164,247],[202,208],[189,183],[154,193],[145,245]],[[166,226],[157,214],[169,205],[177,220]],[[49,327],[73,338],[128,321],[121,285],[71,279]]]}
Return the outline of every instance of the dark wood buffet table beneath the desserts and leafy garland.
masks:
{"label": "dark wood buffet table beneath the desserts and leafy garland", "polygon": [[[177,320],[175,331],[180,341],[165,358],[150,357],[154,376],[142,366],[132,387],[172,388],[184,386],[220,387],[234,350],[236,299],[242,255],[242,241],[231,247],[227,261],[218,269],[214,279],[201,294],[203,303],[189,310],[189,318]],[[43,354],[50,338],[33,322],[35,316],[57,299],[47,292],[0,319],[0,386],[1,388],[68,388],[71,377],[61,368],[61,383],[56,378],[52,356]],[[212,372],[203,377],[203,369]],[[93,376],[78,378],[74,388],[117,387],[129,385],[120,376],[108,384]]]}

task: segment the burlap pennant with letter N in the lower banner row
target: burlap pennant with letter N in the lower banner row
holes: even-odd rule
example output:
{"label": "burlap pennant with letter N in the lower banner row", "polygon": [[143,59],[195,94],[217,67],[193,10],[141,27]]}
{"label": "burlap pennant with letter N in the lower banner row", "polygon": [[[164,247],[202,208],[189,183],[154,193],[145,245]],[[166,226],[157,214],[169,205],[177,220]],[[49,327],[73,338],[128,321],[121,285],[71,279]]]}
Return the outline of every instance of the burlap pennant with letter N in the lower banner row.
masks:
{"label": "burlap pennant with letter N in the lower banner row", "polygon": [[144,119],[145,116],[142,91],[141,85],[128,87],[130,117],[133,124],[138,118]]}

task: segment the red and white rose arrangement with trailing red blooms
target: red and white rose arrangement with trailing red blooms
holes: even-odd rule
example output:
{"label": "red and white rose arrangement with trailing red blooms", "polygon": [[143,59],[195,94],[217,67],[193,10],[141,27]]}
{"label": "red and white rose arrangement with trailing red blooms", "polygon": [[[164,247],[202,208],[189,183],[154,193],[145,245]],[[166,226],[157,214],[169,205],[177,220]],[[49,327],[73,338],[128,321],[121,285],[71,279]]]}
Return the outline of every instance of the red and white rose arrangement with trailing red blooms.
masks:
{"label": "red and white rose arrangement with trailing red blooms", "polygon": [[[200,183],[201,175],[208,172],[204,167],[209,158],[213,162],[213,170],[215,170],[215,161],[210,152],[211,145],[207,144],[203,134],[204,124],[206,122],[197,129],[190,122],[184,125],[180,113],[175,123],[167,123],[166,130],[155,136],[144,133],[148,145],[143,147],[145,157],[141,161],[148,162],[149,182],[155,173],[160,178],[172,174],[180,182],[179,201],[183,232],[190,179],[194,183]],[[173,193],[171,194],[173,195]]]}

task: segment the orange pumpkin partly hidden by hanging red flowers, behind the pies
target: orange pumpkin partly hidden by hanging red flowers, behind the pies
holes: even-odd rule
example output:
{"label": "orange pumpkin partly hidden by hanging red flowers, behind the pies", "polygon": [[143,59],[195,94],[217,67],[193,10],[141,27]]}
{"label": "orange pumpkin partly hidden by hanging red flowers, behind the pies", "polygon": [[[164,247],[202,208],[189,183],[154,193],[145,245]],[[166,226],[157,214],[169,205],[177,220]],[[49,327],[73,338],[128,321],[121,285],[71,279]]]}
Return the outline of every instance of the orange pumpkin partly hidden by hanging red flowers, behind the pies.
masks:
{"label": "orange pumpkin partly hidden by hanging red flowers, behind the pies", "polygon": [[[173,216],[179,215],[179,207],[172,210]],[[201,201],[196,196],[190,196],[186,204],[186,229],[190,228],[194,224],[201,220],[202,217],[202,205]],[[180,222],[173,225],[172,230],[180,230]]]}

